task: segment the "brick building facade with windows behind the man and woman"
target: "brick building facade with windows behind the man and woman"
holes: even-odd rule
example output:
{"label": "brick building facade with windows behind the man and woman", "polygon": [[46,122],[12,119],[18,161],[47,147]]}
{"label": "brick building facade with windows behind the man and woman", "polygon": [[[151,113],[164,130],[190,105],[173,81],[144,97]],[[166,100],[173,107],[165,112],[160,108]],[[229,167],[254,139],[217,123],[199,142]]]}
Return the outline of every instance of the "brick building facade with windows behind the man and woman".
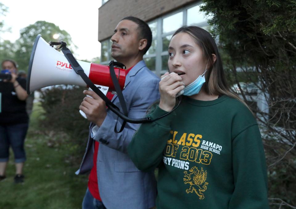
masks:
{"label": "brick building facade with windows behind the man and woman", "polygon": [[199,11],[201,1],[192,0],[102,0],[99,8],[98,40],[101,42],[101,64],[111,57],[110,40],[118,22],[126,16],[138,17],[148,23],[153,40],[144,55],[147,67],[158,76],[167,71],[167,48],[172,34],[181,26],[210,29],[208,17]]}

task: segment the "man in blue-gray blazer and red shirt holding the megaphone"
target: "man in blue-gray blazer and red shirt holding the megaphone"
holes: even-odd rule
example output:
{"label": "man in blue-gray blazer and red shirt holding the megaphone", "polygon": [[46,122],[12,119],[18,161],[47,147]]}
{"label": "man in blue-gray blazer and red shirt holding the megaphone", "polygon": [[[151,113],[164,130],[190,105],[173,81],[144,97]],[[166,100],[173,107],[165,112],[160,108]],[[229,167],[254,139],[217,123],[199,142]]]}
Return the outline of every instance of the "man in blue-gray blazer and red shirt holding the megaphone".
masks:
{"label": "man in blue-gray blazer and red shirt holding the megaphone", "polygon": [[[111,56],[126,66],[125,89],[122,91],[128,116],[142,118],[149,106],[159,99],[159,78],[143,61],[152,42],[149,26],[135,17],[123,18],[111,37]],[[84,91],[80,105],[90,124],[88,145],[80,170],[92,167],[83,208],[148,209],[154,207],[156,181],[154,173],[139,171],[127,155],[127,147],[139,124],[126,123],[121,133],[115,133],[117,115],[106,109],[105,102],[93,91]],[[107,97],[111,98],[109,93]],[[120,107],[117,95],[111,100]],[[122,111],[122,109],[121,109]],[[118,119],[117,130],[122,120]],[[94,139],[94,140],[93,140]],[[98,143],[99,142],[99,143]],[[94,155],[92,155],[94,153]]]}

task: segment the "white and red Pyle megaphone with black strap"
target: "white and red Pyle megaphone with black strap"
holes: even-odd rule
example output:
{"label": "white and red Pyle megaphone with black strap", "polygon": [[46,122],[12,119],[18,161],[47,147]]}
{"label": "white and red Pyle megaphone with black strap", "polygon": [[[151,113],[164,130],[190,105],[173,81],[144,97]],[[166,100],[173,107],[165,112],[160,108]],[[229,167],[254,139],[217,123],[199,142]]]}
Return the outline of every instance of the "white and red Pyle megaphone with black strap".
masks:
{"label": "white and red Pyle megaphone with black strap", "polygon": [[[115,90],[109,66],[77,60],[88,78],[97,85]],[[125,70],[114,67],[121,90],[125,83]],[[34,42],[27,76],[27,93],[54,85],[87,86],[76,74],[64,54],[51,47],[39,34]]]}

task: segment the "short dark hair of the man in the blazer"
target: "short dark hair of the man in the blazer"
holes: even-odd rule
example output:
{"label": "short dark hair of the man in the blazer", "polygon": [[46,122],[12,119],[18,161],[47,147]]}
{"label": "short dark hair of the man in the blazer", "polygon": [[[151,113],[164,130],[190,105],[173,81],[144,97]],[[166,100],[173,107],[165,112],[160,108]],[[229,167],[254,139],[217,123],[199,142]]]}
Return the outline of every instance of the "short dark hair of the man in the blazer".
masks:
{"label": "short dark hair of the man in the blazer", "polygon": [[151,43],[152,43],[152,32],[151,32],[151,29],[148,26],[148,24],[146,22],[144,22],[143,20],[133,17],[133,16],[125,17],[122,20],[130,20],[138,25],[138,30],[140,31],[140,33],[138,34],[139,38],[140,39],[142,39],[142,38],[147,39],[147,45],[143,49],[143,55],[146,54],[146,52],[148,51],[148,49],[150,48]]}

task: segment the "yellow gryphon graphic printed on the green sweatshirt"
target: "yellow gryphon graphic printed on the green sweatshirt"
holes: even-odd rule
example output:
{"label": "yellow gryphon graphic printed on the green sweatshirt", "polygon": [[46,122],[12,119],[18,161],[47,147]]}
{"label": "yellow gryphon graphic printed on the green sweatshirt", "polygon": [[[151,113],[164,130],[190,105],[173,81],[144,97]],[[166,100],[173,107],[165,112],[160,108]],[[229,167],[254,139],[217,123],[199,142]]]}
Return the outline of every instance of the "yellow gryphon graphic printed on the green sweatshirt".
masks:
{"label": "yellow gryphon graphic printed on the green sweatshirt", "polygon": [[[207,179],[207,171],[204,172],[203,168],[201,168],[201,170],[199,171],[198,168],[195,166],[192,167],[189,171],[191,172],[189,174],[187,174],[187,171],[184,171],[185,178],[183,178],[185,184],[190,184],[189,189],[186,189],[187,194],[189,192],[192,193],[193,191],[195,191],[195,193],[199,196],[199,199],[204,199],[204,194],[201,192],[206,191],[207,185],[209,184],[208,182],[204,183]],[[199,185],[203,183],[204,186],[201,188]]]}

